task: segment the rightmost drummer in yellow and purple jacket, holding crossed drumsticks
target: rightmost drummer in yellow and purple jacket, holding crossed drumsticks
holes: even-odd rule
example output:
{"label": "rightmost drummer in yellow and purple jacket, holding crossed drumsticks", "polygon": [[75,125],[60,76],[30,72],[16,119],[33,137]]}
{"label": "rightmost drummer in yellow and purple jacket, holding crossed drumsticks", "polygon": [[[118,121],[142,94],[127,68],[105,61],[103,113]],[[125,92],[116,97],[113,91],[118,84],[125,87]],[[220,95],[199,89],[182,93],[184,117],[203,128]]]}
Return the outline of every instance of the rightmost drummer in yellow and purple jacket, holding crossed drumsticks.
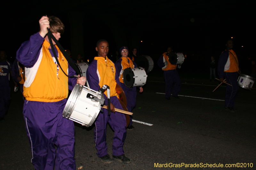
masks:
{"label": "rightmost drummer in yellow and purple jacket, holding crossed drumsticks", "polygon": [[227,83],[232,85],[227,85],[226,87],[225,108],[230,112],[235,112],[235,100],[239,90],[237,72],[240,74],[241,71],[238,67],[236,53],[232,50],[234,46],[233,40],[228,40],[226,46],[227,49],[220,55],[218,62],[218,74],[220,82],[223,82],[224,78],[226,78]]}

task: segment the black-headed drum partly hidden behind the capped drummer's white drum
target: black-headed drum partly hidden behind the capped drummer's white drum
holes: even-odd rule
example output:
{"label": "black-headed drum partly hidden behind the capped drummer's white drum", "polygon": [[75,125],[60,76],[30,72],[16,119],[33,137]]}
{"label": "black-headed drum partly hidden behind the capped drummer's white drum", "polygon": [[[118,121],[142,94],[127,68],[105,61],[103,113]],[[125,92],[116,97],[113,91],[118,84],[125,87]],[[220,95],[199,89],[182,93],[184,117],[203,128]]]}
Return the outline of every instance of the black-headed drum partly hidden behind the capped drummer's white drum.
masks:
{"label": "black-headed drum partly hidden behind the capped drummer's white drum", "polygon": [[149,73],[154,68],[154,61],[153,59],[148,55],[139,56],[135,63],[138,67],[142,67],[145,69],[146,73]]}

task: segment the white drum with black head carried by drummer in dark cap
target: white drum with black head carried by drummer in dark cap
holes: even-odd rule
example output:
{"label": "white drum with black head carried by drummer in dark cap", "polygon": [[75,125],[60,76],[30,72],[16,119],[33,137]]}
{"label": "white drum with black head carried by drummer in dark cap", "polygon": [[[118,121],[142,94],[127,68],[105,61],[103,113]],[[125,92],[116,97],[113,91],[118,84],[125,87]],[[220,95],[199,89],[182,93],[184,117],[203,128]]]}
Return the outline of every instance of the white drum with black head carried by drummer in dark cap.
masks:
{"label": "white drum with black head carried by drummer in dark cap", "polygon": [[123,81],[126,87],[143,86],[147,82],[147,73],[142,68],[126,68],[123,72]]}

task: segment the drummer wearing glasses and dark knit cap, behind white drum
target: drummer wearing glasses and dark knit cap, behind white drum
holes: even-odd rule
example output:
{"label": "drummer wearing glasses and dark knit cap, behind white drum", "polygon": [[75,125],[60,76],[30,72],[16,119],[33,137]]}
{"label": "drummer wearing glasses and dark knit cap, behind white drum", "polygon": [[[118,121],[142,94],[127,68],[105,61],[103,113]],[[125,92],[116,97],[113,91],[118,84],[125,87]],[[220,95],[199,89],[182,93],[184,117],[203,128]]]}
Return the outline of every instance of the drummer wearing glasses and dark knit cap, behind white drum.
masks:
{"label": "drummer wearing glasses and dark knit cap, behind white drum", "polygon": [[[136,105],[136,96],[137,96],[137,91],[136,91],[136,87],[126,87],[124,85],[124,81],[123,81],[123,72],[124,69],[126,68],[137,68],[137,65],[135,62],[132,62],[132,60],[130,59],[130,57],[128,57],[129,54],[129,49],[126,46],[123,46],[120,48],[120,54],[122,55],[122,57],[116,61],[115,63],[115,67],[116,67],[116,76],[119,77],[120,83],[121,83],[121,87],[124,91],[124,94],[126,96],[126,100],[127,100],[127,109],[128,112],[132,112],[132,109],[135,107]],[[143,88],[140,87],[140,92],[143,92]],[[130,123],[129,126],[127,127],[128,130],[133,130],[134,127],[132,126],[132,117],[130,115]]]}

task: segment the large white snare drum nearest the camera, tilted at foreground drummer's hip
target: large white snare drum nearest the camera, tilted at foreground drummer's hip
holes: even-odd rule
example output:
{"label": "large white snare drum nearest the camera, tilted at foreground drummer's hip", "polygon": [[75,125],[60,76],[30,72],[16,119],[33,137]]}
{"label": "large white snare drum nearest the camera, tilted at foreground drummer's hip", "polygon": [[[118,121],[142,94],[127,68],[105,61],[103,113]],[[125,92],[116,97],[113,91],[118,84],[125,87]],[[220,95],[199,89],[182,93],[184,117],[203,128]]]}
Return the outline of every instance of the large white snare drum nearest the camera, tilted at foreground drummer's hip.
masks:
{"label": "large white snare drum nearest the camera, tilted at foreground drummer's hip", "polygon": [[104,101],[103,93],[77,84],[68,98],[62,116],[86,127],[92,126]]}

